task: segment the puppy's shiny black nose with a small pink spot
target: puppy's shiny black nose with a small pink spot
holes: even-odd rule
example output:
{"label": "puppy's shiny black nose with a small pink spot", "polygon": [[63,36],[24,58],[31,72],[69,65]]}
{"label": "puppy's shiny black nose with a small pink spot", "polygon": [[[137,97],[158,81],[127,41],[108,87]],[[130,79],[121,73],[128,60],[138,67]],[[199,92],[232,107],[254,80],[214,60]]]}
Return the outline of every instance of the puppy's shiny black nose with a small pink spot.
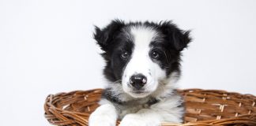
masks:
{"label": "puppy's shiny black nose with a small pink spot", "polygon": [[147,83],[147,78],[142,74],[137,74],[130,77],[130,84],[136,89],[141,89]]}

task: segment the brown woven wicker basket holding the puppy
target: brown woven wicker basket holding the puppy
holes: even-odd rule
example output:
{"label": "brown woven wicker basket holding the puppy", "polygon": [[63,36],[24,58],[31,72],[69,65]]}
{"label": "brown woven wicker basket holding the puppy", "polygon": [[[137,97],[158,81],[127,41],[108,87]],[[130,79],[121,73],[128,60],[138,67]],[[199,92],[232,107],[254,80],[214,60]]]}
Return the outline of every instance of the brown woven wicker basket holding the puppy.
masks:
{"label": "brown woven wicker basket holding the puppy", "polygon": [[[54,125],[88,125],[88,117],[99,105],[102,89],[72,91],[49,95],[44,104],[45,117]],[[184,124],[191,125],[256,125],[256,97],[239,93],[187,89],[179,91],[186,101]],[[119,122],[118,122],[119,124]]]}

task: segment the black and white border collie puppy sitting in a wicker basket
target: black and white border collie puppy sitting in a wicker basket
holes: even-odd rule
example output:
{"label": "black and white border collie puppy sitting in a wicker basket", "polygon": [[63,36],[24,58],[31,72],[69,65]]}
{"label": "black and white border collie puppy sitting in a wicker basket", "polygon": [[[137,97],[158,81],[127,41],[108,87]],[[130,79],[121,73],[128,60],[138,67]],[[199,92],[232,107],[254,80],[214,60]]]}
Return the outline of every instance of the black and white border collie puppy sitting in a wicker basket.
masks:
{"label": "black and white border collie puppy sitting in a wicker basket", "polygon": [[104,76],[109,80],[90,126],[156,126],[182,123],[183,98],[175,82],[180,76],[181,51],[190,31],[171,21],[160,23],[112,20],[96,27],[94,38],[104,51]]}

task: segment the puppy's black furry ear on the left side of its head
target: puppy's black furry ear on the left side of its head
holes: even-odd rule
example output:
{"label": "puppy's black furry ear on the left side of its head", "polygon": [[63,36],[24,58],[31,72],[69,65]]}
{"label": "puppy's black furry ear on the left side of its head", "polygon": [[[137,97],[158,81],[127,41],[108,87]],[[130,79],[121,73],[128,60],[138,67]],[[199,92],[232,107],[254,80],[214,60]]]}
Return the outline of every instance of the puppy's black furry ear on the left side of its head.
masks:
{"label": "puppy's black furry ear on the left side of its head", "polygon": [[94,39],[100,45],[101,50],[107,51],[108,46],[111,44],[115,35],[125,26],[122,20],[112,20],[111,24],[107,27],[100,29],[95,26],[95,33],[93,34]]}

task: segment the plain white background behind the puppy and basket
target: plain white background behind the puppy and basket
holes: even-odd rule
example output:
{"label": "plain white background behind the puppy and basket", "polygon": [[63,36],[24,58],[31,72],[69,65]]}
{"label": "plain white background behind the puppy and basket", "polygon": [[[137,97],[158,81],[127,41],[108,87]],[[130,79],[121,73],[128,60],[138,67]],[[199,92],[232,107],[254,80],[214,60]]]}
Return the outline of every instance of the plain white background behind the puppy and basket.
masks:
{"label": "plain white background behind the puppy and basket", "polygon": [[173,20],[192,30],[181,88],[256,95],[256,1],[0,0],[0,125],[49,125],[49,94],[104,87],[93,25]]}

